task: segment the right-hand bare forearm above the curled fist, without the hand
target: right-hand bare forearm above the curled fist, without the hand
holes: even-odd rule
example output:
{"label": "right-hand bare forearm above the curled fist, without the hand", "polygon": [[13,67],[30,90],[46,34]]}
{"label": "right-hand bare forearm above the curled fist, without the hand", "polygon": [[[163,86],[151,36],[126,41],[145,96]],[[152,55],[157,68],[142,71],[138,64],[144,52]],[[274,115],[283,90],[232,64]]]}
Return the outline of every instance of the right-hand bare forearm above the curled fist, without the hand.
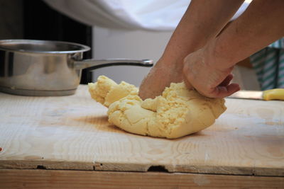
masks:
{"label": "right-hand bare forearm above the curled fist, without the hand", "polygon": [[283,0],[253,1],[221,35],[209,42],[209,62],[220,69],[232,67],[283,37],[283,8]]}

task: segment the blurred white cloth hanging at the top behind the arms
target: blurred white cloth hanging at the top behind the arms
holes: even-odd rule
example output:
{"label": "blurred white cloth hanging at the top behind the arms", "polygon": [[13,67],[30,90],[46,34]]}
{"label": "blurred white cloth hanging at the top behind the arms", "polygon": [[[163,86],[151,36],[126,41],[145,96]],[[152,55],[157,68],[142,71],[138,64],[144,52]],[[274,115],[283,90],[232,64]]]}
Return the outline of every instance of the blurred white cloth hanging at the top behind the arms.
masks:
{"label": "blurred white cloth hanging at the top behind the arms", "polygon": [[[189,0],[45,0],[61,13],[87,25],[129,30],[174,30]],[[245,2],[234,15],[243,13]]]}

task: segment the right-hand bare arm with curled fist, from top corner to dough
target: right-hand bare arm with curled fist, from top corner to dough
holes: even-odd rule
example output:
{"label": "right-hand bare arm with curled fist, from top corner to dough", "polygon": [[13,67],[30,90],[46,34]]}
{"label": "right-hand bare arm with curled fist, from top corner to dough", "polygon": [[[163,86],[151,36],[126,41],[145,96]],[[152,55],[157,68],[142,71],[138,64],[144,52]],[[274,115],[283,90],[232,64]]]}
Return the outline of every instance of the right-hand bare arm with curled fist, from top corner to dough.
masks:
{"label": "right-hand bare arm with curled fist, from top corner to dough", "polygon": [[284,1],[254,0],[217,38],[185,58],[184,76],[204,96],[222,98],[239,90],[229,84],[234,65],[284,35]]}

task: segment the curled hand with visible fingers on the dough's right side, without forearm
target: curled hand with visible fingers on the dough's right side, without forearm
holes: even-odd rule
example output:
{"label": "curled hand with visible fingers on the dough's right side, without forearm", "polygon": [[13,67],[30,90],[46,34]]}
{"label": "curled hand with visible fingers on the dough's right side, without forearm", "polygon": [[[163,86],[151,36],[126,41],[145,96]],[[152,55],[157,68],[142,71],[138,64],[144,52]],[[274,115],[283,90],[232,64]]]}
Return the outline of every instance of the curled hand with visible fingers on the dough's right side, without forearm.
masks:
{"label": "curled hand with visible fingers on the dough's right side, without forearm", "polygon": [[195,88],[202,95],[210,98],[224,98],[240,90],[239,84],[230,84],[233,67],[219,68],[208,50],[202,48],[192,52],[184,59],[182,69],[188,88]]}

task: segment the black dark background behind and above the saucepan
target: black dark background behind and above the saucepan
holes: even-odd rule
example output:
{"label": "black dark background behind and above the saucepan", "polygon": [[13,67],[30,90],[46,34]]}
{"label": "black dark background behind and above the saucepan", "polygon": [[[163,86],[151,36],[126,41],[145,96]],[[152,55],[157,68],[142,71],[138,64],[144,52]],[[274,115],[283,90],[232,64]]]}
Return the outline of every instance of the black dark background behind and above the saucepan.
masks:
{"label": "black dark background behind and above the saucepan", "polygon": [[[60,40],[92,48],[92,27],[53,10],[41,0],[0,0],[0,40]],[[92,50],[84,59],[92,58]],[[82,70],[81,84],[92,81],[92,73]]]}

